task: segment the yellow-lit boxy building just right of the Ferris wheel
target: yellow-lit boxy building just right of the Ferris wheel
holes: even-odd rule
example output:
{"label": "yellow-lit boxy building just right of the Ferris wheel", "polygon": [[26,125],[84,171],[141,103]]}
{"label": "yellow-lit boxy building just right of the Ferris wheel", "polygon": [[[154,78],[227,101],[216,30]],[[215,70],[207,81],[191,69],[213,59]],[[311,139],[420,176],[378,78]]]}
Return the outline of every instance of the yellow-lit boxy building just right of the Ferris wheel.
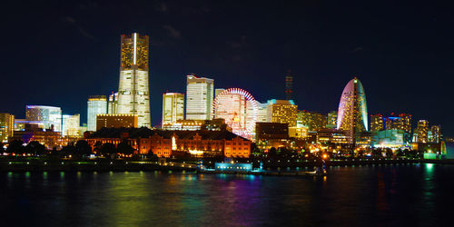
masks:
{"label": "yellow-lit boxy building just right of the Ferris wheel", "polygon": [[298,105],[293,100],[269,100],[267,122],[288,123],[289,127],[296,126]]}

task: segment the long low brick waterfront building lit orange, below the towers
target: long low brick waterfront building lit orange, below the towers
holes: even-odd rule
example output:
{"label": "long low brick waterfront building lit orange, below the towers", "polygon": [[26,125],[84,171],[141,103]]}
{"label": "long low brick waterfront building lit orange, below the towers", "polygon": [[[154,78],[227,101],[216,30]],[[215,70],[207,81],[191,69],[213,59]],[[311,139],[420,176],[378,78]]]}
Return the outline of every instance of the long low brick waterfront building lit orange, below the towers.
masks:
{"label": "long low brick waterfront building lit orange, below the towers", "polygon": [[251,141],[228,131],[163,131],[144,128],[103,129],[88,135],[85,140],[94,144],[127,140],[135,153],[153,153],[158,157],[171,157],[173,153],[189,153],[193,156],[248,158]]}

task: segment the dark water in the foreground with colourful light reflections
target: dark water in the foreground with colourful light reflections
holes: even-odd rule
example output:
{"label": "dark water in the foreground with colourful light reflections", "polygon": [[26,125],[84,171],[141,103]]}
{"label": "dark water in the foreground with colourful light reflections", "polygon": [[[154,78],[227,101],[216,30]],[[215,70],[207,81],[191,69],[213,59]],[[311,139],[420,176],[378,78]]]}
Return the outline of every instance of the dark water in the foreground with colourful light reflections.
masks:
{"label": "dark water in the foreground with colourful light reflections", "polygon": [[454,166],[332,167],[325,177],[0,173],[3,226],[449,225]]}

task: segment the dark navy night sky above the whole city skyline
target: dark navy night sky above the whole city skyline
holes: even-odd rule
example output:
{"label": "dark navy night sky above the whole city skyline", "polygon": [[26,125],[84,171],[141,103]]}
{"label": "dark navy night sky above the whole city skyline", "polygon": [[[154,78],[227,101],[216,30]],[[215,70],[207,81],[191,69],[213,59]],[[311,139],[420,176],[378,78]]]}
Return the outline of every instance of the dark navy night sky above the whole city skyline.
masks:
{"label": "dark navy night sky above the whole city skyline", "polygon": [[[15,3],[12,3],[15,2]],[[357,76],[369,114],[409,113],[454,136],[454,7],[435,1],[9,1],[2,4],[0,112],[25,104],[81,114],[118,89],[120,35],[150,35],[152,124],[163,92],[186,74],[284,98],[294,74],[301,110],[337,110]]]}

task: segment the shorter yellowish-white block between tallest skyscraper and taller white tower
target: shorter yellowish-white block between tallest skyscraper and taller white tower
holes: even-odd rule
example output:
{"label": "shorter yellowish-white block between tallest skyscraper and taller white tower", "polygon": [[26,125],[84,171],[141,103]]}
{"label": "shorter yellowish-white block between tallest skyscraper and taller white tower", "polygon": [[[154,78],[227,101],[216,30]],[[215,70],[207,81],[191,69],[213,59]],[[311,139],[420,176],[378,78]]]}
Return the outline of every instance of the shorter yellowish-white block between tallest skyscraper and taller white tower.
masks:
{"label": "shorter yellowish-white block between tallest skyscraper and taller white tower", "polygon": [[[184,94],[163,94],[163,125],[184,119]],[[163,126],[162,125],[162,126]]]}

